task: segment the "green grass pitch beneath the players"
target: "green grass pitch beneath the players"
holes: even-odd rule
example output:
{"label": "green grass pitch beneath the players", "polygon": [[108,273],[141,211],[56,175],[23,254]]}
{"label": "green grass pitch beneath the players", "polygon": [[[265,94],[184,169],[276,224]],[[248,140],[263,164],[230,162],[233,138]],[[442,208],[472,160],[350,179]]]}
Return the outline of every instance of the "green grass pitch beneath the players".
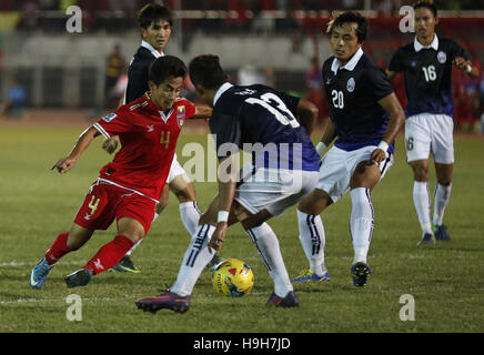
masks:
{"label": "green grass pitch beneath the players", "polygon": [[[14,128],[0,130],[0,332],[208,332],[208,333],[323,333],[323,332],[483,332],[484,331],[484,144],[482,139],[456,138],[456,164],[445,224],[450,243],[417,248],[420,226],[412,201],[412,174],[402,139],[395,164],[373,192],[375,230],[369,254],[373,275],[357,290],[350,276],[353,256],[349,234],[350,199],[326,210],[326,265],[331,282],[295,285],[299,308],[265,306],[272,281],[243,230],[232,226],[222,257],[238,257],[252,266],[255,286],[246,297],[224,298],[212,290],[203,271],[183,315],[135,308],[135,300],[160,293],[178,273],[189,243],[170,196],[168,210],[153,224],[132,258],[142,273],[105,272],[87,287],[67,288],[63,277],[81,267],[112,240],[114,229],[97,232],[80,251],[62,258],[41,290],[29,287],[31,268],[68,231],[83,195],[110,156],[93,142],[78,165],[65,175],[49,168],[67,154],[83,128]],[[183,144],[206,142],[182,134]],[[435,184],[432,170],[431,191]],[[216,192],[215,183],[195,183],[204,211]],[[306,267],[298,237],[295,210],[270,221],[279,236],[290,273]],[[67,318],[67,297],[82,300],[82,321]],[[412,295],[415,320],[402,321],[402,295]]]}

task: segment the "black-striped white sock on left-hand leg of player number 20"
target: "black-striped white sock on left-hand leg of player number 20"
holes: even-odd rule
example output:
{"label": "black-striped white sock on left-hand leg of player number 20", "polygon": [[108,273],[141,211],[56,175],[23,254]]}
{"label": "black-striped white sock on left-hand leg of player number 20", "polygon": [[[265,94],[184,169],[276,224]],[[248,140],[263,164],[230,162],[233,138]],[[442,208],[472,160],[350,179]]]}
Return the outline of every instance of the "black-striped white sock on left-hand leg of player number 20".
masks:
{"label": "black-striped white sock on left-hand leg of player number 20", "polygon": [[322,276],[326,272],[324,265],[324,235],[323,221],[320,215],[305,214],[298,211],[299,240],[310,262],[310,268]]}

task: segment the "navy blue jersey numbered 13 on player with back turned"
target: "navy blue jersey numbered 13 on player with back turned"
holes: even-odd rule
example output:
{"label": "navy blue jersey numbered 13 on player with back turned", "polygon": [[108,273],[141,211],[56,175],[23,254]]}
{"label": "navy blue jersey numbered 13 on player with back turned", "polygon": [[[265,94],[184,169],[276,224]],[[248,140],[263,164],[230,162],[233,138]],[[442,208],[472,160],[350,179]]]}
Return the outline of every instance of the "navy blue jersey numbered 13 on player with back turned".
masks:
{"label": "navy blue jersey numbered 13 on player with back turned", "polygon": [[222,91],[210,118],[219,158],[234,146],[252,153],[256,168],[319,171],[320,156],[295,119],[299,98],[260,84],[225,83]]}

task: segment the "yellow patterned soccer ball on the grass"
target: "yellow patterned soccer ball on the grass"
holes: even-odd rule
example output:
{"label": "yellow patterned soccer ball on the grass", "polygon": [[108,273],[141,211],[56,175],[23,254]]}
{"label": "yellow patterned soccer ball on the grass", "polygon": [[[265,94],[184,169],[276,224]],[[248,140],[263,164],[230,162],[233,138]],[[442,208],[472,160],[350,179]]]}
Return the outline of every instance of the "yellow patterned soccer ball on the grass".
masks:
{"label": "yellow patterned soccer ball on the grass", "polygon": [[243,261],[228,258],[216,266],[212,284],[220,296],[242,297],[254,286],[254,273]]}

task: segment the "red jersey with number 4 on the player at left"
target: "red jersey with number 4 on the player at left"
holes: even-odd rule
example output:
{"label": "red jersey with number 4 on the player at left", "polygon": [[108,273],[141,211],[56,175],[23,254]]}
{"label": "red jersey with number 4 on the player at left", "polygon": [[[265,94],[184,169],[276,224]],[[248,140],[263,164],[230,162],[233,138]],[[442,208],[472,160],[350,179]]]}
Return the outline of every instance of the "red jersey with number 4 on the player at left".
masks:
{"label": "red jersey with number 4 on the player at left", "polygon": [[121,142],[100,178],[159,200],[183,122],[194,113],[195,106],[184,98],[163,112],[147,93],[99,120],[93,126],[104,138],[118,135]]}

